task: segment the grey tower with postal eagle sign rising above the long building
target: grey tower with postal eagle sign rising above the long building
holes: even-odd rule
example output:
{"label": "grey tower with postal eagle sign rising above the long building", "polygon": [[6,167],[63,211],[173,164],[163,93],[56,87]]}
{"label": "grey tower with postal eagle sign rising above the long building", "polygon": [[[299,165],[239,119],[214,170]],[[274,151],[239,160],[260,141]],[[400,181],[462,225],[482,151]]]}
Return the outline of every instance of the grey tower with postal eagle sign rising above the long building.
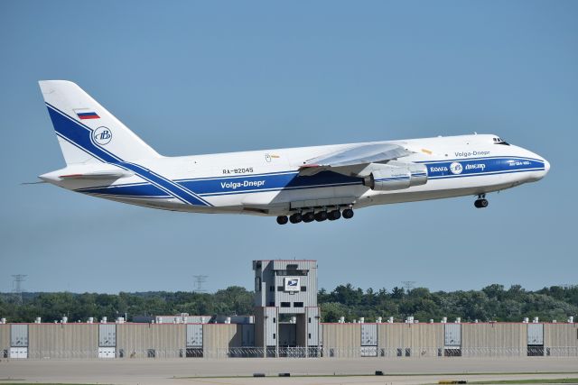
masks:
{"label": "grey tower with postal eagle sign rising above the long building", "polygon": [[253,270],[256,346],[274,357],[317,355],[317,261],[253,261]]}

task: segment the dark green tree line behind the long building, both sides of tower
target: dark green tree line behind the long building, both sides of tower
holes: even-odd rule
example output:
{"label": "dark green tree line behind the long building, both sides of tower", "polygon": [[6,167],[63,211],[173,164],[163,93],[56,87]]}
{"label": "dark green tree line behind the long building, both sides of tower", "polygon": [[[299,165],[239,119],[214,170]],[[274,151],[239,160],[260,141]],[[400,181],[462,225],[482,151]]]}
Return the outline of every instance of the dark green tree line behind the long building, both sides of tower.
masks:
{"label": "dark green tree line behind the long building, both sides of tower", "polygon": [[[96,320],[107,316],[159,316],[189,313],[190,315],[250,315],[253,314],[252,291],[238,286],[215,293],[150,291],[118,294],[98,293],[23,293],[22,298],[12,293],[0,294],[0,316],[8,322],[33,322],[40,316],[42,322],[53,322],[68,316],[69,322]],[[481,290],[435,291],[425,288],[361,289],[350,284],[339,285],[328,291],[319,290],[318,302],[323,322],[337,322],[344,316],[346,322],[359,317],[375,321],[378,316],[393,316],[396,322],[414,316],[421,322],[443,316],[452,321],[520,322],[534,316],[543,321],[554,319],[564,322],[568,316],[578,319],[578,286],[530,291],[519,285],[505,289],[493,284]]]}

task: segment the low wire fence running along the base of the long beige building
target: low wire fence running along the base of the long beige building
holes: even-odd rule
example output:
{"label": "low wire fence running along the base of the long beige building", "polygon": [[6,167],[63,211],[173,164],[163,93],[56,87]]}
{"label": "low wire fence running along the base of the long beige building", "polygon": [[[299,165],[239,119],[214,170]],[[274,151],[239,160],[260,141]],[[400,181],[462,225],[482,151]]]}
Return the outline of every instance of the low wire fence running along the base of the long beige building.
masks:
{"label": "low wire fence running along the base of the long beige building", "polygon": [[[23,355],[20,355],[23,357]],[[25,358],[31,360],[78,360],[78,359],[225,359],[225,358],[362,358],[383,359],[479,357],[578,357],[578,346],[528,346],[528,347],[414,347],[383,348],[361,347],[228,347],[216,349],[114,349],[107,353],[98,350],[36,350],[30,349]],[[24,358],[23,357],[23,358]],[[4,351],[4,359],[10,359],[10,352]],[[14,358],[14,357],[13,357]]]}

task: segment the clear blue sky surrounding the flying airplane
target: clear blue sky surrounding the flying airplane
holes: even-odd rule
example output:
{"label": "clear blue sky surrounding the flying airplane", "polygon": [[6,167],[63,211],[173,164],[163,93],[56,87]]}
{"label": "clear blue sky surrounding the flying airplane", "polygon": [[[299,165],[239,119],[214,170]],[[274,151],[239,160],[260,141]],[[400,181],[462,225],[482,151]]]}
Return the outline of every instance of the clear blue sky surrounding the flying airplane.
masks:
{"label": "clear blue sky surrounding the flying airplane", "polygon": [[[252,288],[254,259],[316,259],[320,287],[578,283],[578,3],[0,2],[0,291]],[[497,133],[552,163],[489,196],[351,221],[126,206],[50,185],[64,162],[39,79],[79,83],[164,155]],[[419,240],[416,241],[416,240]]]}

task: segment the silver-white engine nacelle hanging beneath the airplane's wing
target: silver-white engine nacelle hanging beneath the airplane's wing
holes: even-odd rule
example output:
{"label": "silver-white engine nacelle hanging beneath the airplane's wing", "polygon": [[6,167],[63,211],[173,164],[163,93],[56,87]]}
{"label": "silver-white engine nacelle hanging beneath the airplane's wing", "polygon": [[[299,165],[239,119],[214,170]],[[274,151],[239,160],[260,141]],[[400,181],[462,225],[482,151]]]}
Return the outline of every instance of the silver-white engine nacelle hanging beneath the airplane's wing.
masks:
{"label": "silver-white engine nacelle hanging beneath the airplane's wing", "polygon": [[363,178],[363,184],[373,190],[400,190],[427,182],[427,167],[424,164],[390,160],[387,164],[372,163],[370,166],[371,172]]}

